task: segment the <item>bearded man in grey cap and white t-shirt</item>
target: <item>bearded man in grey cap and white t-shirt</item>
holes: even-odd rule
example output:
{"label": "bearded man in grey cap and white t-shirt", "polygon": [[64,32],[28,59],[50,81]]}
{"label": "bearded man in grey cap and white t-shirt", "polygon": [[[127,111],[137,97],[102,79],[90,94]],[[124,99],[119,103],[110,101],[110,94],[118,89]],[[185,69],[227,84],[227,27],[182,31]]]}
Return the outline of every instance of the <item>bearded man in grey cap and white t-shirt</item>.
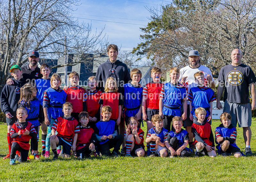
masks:
{"label": "bearded man in grey cap and white t-shirt", "polygon": [[[200,55],[197,50],[189,51],[188,61],[189,61],[189,65],[180,69],[180,78],[179,78],[179,82],[181,84],[183,84],[184,86],[186,86],[187,94],[188,94],[190,88],[197,86],[197,83],[194,78],[194,74],[198,71],[201,71],[202,73],[204,73],[205,86],[207,84],[209,84],[210,88],[215,88],[215,82],[212,79],[211,70],[209,68],[199,64],[200,63]],[[193,124],[193,120],[189,119],[189,114],[190,114],[189,101],[187,103],[188,103],[187,119],[184,120],[184,127],[189,135],[189,142],[188,142],[189,148],[194,150],[194,148],[192,146],[193,133],[191,132],[191,126]],[[212,121],[209,121],[209,122],[210,122],[210,124],[212,123]]]}

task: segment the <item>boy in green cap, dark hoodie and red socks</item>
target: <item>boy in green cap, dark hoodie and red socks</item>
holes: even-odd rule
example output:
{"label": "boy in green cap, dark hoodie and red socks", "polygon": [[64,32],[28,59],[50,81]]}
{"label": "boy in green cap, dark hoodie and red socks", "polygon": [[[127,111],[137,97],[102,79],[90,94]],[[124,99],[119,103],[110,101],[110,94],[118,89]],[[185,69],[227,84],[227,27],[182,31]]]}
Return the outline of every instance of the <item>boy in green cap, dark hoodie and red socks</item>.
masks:
{"label": "boy in green cap, dark hoodie and red socks", "polygon": [[13,84],[5,84],[0,98],[1,110],[6,115],[7,140],[9,145],[9,154],[7,154],[7,156],[4,157],[4,159],[10,158],[12,146],[12,138],[10,136],[10,131],[12,125],[17,121],[16,110],[19,107],[18,102],[20,100],[20,88],[24,84],[26,84],[26,80],[24,78],[21,78],[22,71],[18,65],[13,65],[10,69],[10,72],[13,76],[13,78],[11,78]]}

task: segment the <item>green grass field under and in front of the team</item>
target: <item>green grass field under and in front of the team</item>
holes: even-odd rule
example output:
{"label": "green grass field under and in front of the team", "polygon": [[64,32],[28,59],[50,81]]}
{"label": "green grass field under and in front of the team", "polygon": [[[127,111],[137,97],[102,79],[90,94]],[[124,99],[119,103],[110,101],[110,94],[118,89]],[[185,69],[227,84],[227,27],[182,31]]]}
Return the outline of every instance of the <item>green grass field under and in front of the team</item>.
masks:
{"label": "green grass field under and in front of the team", "polygon": [[[256,118],[252,122],[252,152],[256,156]],[[220,122],[212,122],[212,129]],[[146,131],[146,126],[142,128]],[[0,181],[256,181],[256,157],[91,157],[31,160],[9,165],[7,125],[0,124]],[[40,133],[41,134],[41,133]],[[40,135],[39,135],[40,136]],[[242,128],[236,144],[244,151]],[[41,142],[38,146],[41,149]]]}

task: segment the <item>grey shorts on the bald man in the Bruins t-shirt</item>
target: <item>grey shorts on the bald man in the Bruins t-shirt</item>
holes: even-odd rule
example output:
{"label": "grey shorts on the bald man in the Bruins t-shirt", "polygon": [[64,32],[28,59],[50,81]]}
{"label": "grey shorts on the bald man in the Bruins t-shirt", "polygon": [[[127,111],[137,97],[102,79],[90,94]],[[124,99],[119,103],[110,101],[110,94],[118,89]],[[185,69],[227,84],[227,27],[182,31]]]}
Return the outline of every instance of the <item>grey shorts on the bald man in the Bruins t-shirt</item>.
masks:
{"label": "grey shorts on the bald man in the Bruins t-shirt", "polygon": [[232,103],[225,100],[223,113],[231,115],[231,124],[236,127],[250,127],[252,125],[252,108],[250,103]]}

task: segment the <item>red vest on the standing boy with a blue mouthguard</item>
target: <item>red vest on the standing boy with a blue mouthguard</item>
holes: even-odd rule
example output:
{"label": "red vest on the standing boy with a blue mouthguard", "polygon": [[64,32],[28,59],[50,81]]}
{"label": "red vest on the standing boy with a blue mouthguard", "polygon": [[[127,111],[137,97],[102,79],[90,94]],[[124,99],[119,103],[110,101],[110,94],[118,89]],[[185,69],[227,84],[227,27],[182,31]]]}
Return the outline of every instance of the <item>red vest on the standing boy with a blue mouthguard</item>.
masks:
{"label": "red vest on the standing boy with a blue mouthguard", "polygon": [[146,108],[159,109],[159,95],[164,84],[162,83],[148,83],[148,98],[146,102]]}

